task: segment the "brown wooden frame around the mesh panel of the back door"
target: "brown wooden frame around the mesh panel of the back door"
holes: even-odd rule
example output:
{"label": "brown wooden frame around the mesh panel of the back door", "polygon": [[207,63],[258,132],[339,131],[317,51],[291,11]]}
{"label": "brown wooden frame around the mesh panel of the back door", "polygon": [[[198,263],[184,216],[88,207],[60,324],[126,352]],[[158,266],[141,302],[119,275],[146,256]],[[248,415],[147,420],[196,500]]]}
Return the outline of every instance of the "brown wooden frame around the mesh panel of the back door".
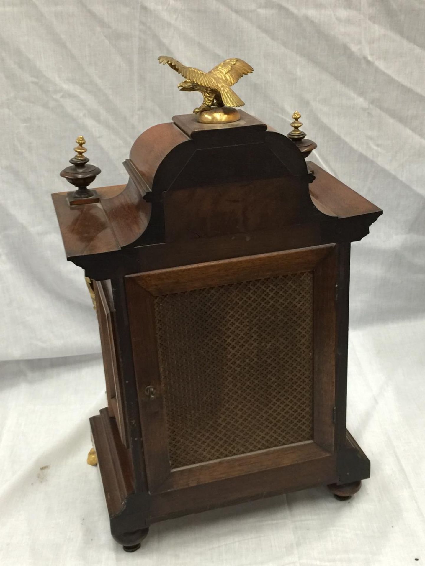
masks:
{"label": "brown wooden frame around the mesh panel of the back door", "polygon": [[[337,246],[301,248],[159,269],[125,277],[130,333],[151,493],[236,477],[324,457],[334,451]],[[158,295],[313,271],[313,440],[171,469],[158,363]],[[146,388],[154,388],[154,397]]]}

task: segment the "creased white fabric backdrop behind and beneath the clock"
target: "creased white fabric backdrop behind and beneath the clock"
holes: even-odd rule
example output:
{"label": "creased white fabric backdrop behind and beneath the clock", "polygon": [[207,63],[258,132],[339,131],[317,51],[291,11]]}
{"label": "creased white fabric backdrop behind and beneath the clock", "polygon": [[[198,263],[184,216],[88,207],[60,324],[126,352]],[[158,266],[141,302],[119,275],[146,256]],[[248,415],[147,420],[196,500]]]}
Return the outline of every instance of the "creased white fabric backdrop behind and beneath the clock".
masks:
{"label": "creased white fabric backdrop behind and beneath the clock", "polygon": [[[0,0],[1,564],[425,560],[424,26],[422,0]],[[308,490],[156,525],[131,558],[84,463],[100,344],[50,192],[76,136],[97,186],[125,183],[134,139],[198,104],[160,54],[248,61],[244,109],[283,133],[298,109],[313,161],[384,209],[352,246],[349,425],[372,478],[349,504]]]}

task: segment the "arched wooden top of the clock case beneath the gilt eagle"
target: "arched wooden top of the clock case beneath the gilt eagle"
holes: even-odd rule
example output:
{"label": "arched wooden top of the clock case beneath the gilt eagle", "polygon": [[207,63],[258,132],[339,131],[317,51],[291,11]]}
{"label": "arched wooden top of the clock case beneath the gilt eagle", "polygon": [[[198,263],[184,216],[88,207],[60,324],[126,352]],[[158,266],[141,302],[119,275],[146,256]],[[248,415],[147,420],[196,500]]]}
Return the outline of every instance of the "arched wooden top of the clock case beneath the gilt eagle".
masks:
{"label": "arched wooden top of the clock case beneath the gilt eagle", "polygon": [[108,261],[137,272],[158,244],[166,250],[186,242],[199,260],[199,250],[211,250],[211,260],[258,253],[260,241],[275,251],[368,233],[382,211],[305,161],[316,144],[298,119],[284,136],[239,113],[239,121],[220,124],[177,115],[135,140],[126,185],[96,188],[95,199],[77,204],[70,193],[54,194],[68,259],[97,277],[93,266],[104,254],[106,278]]}

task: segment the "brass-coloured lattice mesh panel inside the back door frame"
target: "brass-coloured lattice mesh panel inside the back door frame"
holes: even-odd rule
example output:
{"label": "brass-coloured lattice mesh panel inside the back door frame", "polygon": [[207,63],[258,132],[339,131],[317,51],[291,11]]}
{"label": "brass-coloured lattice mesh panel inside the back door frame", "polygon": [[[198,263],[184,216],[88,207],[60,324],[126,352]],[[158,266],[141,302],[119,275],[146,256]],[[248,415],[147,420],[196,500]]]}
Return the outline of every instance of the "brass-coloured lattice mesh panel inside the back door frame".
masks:
{"label": "brass-coloured lattice mesh panel inside the back door frame", "polygon": [[311,440],[313,273],[155,298],[172,468]]}

